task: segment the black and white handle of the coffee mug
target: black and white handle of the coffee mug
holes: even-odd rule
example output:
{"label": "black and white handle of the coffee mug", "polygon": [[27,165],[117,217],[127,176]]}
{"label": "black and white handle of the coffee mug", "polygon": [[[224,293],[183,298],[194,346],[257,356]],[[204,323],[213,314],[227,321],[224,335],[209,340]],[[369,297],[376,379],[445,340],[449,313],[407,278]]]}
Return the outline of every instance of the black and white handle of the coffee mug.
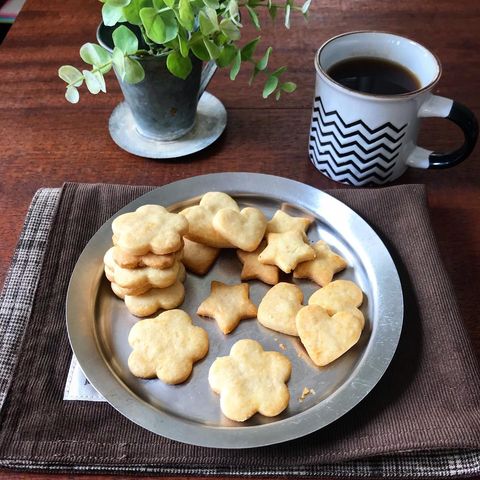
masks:
{"label": "black and white handle of the coffee mug", "polygon": [[420,118],[446,118],[458,125],[464,135],[463,145],[447,153],[433,152],[416,146],[407,158],[407,165],[416,168],[450,168],[463,162],[472,153],[478,139],[478,121],[471,110],[449,98],[431,95],[420,107]]}

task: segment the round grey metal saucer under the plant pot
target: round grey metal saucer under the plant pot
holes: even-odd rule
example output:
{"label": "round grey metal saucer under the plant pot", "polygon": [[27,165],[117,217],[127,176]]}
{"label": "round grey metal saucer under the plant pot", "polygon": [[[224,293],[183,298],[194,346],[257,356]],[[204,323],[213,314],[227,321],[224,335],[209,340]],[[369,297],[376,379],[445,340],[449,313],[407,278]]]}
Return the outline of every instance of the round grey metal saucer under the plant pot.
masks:
{"label": "round grey metal saucer under the plant pot", "polygon": [[227,125],[227,111],[222,102],[204,92],[197,108],[195,125],[177,140],[162,142],[141,135],[126,102],[113,110],[108,129],[113,141],[123,150],[146,158],[176,158],[199,152],[211,145]]}

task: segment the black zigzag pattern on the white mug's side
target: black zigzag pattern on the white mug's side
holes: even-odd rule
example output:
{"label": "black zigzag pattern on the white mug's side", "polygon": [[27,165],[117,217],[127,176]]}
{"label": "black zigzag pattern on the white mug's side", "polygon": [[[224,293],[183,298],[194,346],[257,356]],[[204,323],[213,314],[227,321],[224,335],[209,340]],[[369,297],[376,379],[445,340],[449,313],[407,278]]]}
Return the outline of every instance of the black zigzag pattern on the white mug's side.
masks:
{"label": "black zigzag pattern on the white mug's side", "polygon": [[[336,110],[327,111],[321,98],[316,97],[310,159],[320,171],[338,181],[356,185],[384,183],[393,174],[406,127],[387,122],[370,128],[363,120],[347,123]],[[368,165],[371,162],[375,164]]]}

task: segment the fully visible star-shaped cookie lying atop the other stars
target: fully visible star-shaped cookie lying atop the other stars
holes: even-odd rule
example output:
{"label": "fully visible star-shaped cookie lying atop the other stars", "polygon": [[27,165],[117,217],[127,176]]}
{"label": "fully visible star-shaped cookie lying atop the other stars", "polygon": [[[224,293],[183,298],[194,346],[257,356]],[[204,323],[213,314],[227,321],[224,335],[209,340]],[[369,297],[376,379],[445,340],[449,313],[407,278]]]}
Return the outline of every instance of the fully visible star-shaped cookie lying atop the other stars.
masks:
{"label": "fully visible star-shaped cookie lying atop the other stars", "polygon": [[285,273],[315,258],[315,250],[306,243],[307,236],[300,230],[283,233],[269,233],[267,248],[258,256],[258,261],[267,265],[276,265]]}

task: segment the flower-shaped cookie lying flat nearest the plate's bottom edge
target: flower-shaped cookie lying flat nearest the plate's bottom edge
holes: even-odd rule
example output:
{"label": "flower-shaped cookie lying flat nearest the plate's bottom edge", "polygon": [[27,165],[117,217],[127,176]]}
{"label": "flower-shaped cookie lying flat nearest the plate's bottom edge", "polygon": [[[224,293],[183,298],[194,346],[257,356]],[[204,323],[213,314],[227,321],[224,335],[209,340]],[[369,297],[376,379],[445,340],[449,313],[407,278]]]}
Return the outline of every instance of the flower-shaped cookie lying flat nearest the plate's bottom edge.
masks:
{"label": "flower-shaped cookie lying flat nearest the plate's bottom edge", "polygon": [[288,406],[290,360],[278,352],[265,352],[255,340],[239,340],[228,357],[218,357],[208,372],[212,390],[220,395],[223,414],[244,422],[259,412],[267,417]]}

